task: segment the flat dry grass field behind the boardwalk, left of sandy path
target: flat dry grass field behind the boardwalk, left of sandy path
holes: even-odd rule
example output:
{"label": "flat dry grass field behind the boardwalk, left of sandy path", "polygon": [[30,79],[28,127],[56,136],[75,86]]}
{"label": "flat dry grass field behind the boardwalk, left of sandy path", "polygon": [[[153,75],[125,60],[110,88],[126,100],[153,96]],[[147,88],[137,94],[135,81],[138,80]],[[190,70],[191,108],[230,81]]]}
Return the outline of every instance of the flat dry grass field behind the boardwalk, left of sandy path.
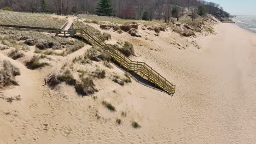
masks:
{"label": "flat dry grass field behind the boardwalk, left of sandy path", "polygon": [[60,28],[65,22],[65,19],[51,17],[46,14],[18,13],[0,10],[0,25]]}

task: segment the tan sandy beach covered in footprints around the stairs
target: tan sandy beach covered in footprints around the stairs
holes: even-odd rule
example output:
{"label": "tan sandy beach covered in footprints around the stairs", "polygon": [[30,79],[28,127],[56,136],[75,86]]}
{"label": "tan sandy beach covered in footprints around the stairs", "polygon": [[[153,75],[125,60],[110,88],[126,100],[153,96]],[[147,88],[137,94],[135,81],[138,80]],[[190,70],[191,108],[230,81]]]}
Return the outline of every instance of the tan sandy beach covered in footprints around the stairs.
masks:
{"label": "tan sandy beach covered in footprints around the stairs", "polygon": [[[0,97],[22,98],[11,104],[0,100],[0,143],[256,143],[256,34],[231,23],[214,29],[216,34],[197,38],[171,31],[155,37],[140,30],[143,38],[109,32],[109,43],[131,41],[137,55],[132,59],[146,61],[176,84],[173,97],[134,80],[123,87],[109,85],[110,79],[97,81],[96,100],[78,97],[65,84],[54,91],[42,86],[54,68],[28,70],[0,53],[21,71],[16,77],[20,86],[3,90]],[[179,50],[170,41],[196,41],[200,49]],[[117,67],[113,71],[123,73]],[[117,112],[105,109],[102,100],[111,101]],[[123,124],[117,125],[120,117]],[[141,128],[133,129],[132,121]]]}

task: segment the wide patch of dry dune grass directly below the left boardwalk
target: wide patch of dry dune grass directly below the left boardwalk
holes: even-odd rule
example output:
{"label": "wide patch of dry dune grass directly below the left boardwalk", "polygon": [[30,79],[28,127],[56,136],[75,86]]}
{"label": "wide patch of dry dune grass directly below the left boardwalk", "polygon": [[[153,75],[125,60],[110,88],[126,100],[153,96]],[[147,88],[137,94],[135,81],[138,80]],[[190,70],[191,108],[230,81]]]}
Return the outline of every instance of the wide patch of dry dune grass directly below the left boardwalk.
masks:
{"label": "wide patch of dry dune grass directly below the left boardwalk", "polygon": [[[14,30],[3,30],[0,33],[0,43],[8,47],[15,47],[16,50],[10,53],[10,57],[18,59],[22,57],[18,50],[27,50],[30,46],[36,46],[35,53],[44,55],[67,56],[84,46],[84,43],[75,39],[60,38],[54,35],[45,35],[37,32],[25,32]],[[4,47],[2,49],[5,49]],[[57,51],[57,52],[56,52]]]}

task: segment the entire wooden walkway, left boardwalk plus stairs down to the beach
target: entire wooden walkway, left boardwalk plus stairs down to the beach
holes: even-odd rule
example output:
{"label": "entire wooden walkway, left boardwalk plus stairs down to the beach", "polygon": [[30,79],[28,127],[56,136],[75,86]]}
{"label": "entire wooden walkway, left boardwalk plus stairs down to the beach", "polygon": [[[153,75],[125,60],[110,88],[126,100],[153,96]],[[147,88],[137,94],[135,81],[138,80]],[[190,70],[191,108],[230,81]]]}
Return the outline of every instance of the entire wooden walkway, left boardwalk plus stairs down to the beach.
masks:
{"label": "entire wooden walkway, left boardwalk plus stairs down to the beach", "polygon": [[[137,62],[132,61],[129,57],[126,57],[123,53],[117,50],[112,45],[108,45],[104,43],[104,41],[98,39],[92,32],[88,29],[69,29],[68,31],[64,31],[67,26],[63,25],[61,29],[56,28],[43,28],[43,27],[28,27],[28,26],[13,26],[13,25],[0,25],[0,27],[8,28],[8,29],[16,29],[19,31],[36,31],[36,32],[44,32],[44,33],[55,33],[56,35],[63,37],[74,37],[78,36],[88,41],[92,46],[101,47],[104,51],[108,52],[108,54],[113,58],[113,60],[119,63],[123,68],[129,71],[133,71],[140,75],[141,77],[147,77],[148,81],[158,86],[166,93],[173,95],[175,93],[176,86],[171,82],[165,79],[165,77],[161,76],[158,72],[156,72],[152,67],[149,67],[145,62]],[[72,27],[72,25],[71,25]]]}

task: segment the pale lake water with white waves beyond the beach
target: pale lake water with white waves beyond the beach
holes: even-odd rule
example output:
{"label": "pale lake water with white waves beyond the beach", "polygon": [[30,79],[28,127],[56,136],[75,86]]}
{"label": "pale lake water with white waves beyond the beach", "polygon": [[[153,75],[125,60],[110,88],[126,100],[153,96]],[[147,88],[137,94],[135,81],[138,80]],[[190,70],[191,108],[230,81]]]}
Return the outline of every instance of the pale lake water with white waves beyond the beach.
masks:
{"label": "pale lake water with white waves beyond the beach", "polygon": [[237,16],[233,20],[237,26],[256,33],[256,16]]}

